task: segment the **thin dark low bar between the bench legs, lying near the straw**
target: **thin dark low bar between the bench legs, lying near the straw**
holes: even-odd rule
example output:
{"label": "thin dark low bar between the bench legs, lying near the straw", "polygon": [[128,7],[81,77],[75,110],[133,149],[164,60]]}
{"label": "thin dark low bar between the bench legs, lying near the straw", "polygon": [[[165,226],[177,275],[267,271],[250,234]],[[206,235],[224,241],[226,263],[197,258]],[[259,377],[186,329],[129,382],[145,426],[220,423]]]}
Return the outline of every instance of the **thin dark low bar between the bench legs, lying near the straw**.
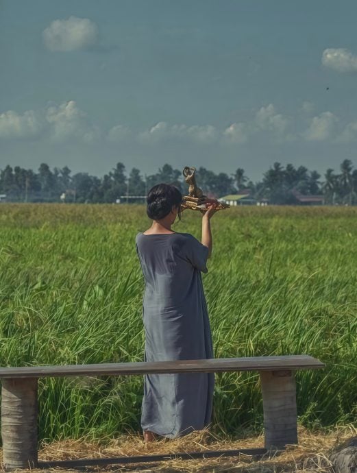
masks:
{"label": "thin dark low bar between the bench legs, lying near the straw", "polygon": [[245,448],[243,450],[206,450],[205,452],[177,452],[161,455],[145,455],[138,457],[117,457],[117,458],[96,458],[83,460],[62,460],[62,461],[39,461],[39,468],[81,468],[95,465],[116,465],[130,463],[153,463],[158,461],[182,459],[205,459],[214,457],[236,457],[237,455],[259,455],[267,454],[265,448]]}

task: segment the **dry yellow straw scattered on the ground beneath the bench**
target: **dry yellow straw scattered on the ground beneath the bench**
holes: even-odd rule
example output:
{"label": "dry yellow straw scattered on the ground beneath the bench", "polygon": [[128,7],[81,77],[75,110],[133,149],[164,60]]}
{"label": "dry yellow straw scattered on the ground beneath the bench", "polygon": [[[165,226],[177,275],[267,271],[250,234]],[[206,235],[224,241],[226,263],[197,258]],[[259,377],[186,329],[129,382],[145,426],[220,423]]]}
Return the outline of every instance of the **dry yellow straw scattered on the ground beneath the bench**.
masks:
{"label": "dry yellow straw scattered on the ground beneath the bench", "polygon": [[[222,457],[218,459],[169,460],[156,464],[108,465],[88,468],[90,472],[247,472],[247,473],[292,473],[292,472],[332,472],[328,457],[332,450],[357,434],[353,426],[336,428],[328,432],[310,432],[299,428],[299,446],[290,446],[282,454],[269,457]],[[260,448],[264,439],[247,437],[237,441],[218,439],[208,432],[193,433],[174,441],[160,440],[145,445],[141,437],[120,437],[106,442],[86,440],[65,440],[45,445],[39,452],[42,461],[75,460],[89,458],[113,458],[132,455],[169,454],[204,450],[230,450],[237,448]],[[83,469],[81,469],[83,471]],[[73,470],[32,470],[32,472],[69,472]]]}

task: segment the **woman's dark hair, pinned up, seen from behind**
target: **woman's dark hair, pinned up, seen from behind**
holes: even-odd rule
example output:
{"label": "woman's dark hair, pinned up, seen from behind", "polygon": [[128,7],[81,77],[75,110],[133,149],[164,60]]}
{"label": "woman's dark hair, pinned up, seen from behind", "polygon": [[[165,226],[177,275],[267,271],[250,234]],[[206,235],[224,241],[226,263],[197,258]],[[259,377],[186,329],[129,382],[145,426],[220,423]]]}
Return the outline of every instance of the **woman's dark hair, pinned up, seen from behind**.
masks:
{"label": "woman's dark hair, pinned up, seen from behind", "polygon": [[171,184],[158,184],[151,187],[147,194],[147,216],[149,219],[160,220],[169,215],[173,207],[181,216],[182,194]]}

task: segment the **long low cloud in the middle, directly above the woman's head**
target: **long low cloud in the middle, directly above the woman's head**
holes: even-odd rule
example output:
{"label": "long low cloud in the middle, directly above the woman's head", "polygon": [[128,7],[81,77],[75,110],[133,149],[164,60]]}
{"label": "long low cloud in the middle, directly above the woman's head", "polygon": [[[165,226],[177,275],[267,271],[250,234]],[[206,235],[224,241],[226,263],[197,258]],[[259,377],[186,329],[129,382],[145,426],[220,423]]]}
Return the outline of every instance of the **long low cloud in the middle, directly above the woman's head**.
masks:
{"label": "long low cloud in the middle, directly above the woman's head", "polygon": [[156,142],[167,138],[182,138],[200,143],[213,143],[218,138],[217,129],[212,125],[169,125],[159,121],[149,130],[139,134],[141,141]]}

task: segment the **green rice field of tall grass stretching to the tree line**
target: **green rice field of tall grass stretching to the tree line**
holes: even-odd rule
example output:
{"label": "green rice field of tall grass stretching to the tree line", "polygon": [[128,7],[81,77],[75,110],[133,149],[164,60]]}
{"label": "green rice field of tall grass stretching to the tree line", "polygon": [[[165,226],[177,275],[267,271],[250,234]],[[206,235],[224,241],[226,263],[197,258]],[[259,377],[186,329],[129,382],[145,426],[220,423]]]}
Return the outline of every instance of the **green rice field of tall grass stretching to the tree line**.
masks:
{"label": "green rice field of tall grass stretching to the tree line", "polygon": [[[177,232],[200,237],[200,214]],[[145,206],[0,204],[0,364],[142,361]],[[357,208],[239,207],[212,218],[204,287],[216,357],[310,354],[299,422],[357,419]],[[214,430],[262,428],[258,374],[219,374]],[[40,380],[40,439],[140,430],[138,376]]]}

